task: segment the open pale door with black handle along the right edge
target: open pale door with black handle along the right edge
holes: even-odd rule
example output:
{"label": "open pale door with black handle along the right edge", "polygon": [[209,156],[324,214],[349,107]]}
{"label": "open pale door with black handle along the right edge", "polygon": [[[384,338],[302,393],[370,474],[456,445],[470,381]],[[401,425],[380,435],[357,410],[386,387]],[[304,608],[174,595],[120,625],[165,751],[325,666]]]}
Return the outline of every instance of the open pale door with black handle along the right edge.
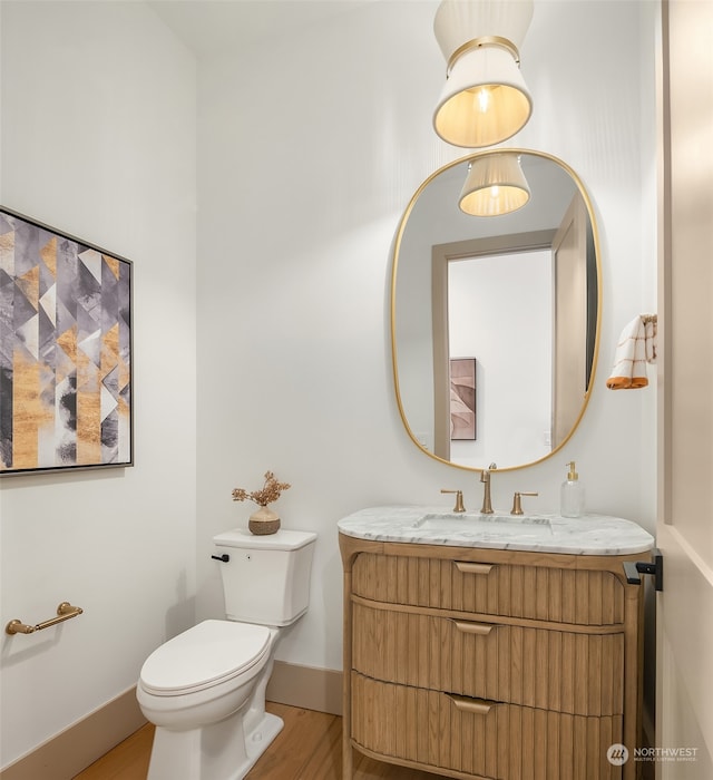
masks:
{"label": "open pale door with black handle along the right edge", "polygon": [[662,39],[656,777],[711,780],[713,2],[664,1]]}

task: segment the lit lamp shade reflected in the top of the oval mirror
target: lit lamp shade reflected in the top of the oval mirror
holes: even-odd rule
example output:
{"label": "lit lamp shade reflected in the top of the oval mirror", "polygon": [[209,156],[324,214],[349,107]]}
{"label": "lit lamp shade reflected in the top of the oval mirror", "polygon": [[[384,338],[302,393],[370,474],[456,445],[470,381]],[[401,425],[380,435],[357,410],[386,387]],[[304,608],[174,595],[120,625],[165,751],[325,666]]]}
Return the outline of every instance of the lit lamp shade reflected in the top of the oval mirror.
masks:
{"label": "lit lamp shade reflected in the top of the oval mirror", "polygon": [[519,155],[502,153],[473,159],[458,206],[471,216],[500,216],[516,212],[529,199]]}

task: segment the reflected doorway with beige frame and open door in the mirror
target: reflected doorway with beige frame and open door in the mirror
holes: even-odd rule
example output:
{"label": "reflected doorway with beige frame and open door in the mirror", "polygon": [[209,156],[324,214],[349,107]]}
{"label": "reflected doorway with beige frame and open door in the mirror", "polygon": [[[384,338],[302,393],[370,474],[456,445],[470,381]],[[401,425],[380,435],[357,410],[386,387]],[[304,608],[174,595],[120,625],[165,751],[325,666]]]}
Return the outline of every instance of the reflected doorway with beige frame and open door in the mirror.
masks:
{"label": "reflected doorway with beige frame and open door in the mirror", "polygon": [[[507,462],[512,452],[536,461],[576,426],[596,335],[587,224],[584,202],[575,197],[557,230],[508,236],[507,247],[494,238],[433,247],[438,457],[473,468],[499,457]],[[477,439],[453,435],[451,361],[463,354],[478,355]]]}

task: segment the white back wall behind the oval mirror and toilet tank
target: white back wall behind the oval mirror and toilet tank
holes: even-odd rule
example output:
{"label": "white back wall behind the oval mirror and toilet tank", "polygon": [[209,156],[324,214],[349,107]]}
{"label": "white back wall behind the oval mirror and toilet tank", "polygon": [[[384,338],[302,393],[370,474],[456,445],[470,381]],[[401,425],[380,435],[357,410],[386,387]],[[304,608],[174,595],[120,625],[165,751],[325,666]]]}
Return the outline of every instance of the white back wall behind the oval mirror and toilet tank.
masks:
{"label": "white back wall behind the oval mirror and toilet tank", "polygon": [[[462,156],[431,129],[445,74],[437,4],[367,3],[199,62],[198,614],[222,610],[212,535],[251,510],[231,489],[273,469],[294,486],[276,505],[284,525],[319,533],[311,610],[277,653],[295,663],[341,667],[341,517],[381,503],[446,506],[442,487],[480,501],[476,475],[408,439],[391,379],[392,238],[420,182]],[[501,508],[518,489],[556,510],[575,459],[590,509],[653,526],[642,441],[654,390],[604,384],[622,328],[655,300],[655,223],[642,206],[653,186],[646,4],[536,1],[522,49],[535,114],[514,144],[569,163],[594,201],[603,349],[579,430],[556,458],[496,475]]]}

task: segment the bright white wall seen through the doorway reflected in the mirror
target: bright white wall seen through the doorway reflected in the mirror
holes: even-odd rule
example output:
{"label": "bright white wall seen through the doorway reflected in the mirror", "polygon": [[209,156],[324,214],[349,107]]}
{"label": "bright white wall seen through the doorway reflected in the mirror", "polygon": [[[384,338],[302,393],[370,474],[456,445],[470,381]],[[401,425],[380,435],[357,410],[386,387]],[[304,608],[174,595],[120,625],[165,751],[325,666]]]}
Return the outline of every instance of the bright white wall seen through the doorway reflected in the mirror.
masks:
{"label": "bright white wall seen through the doorway reflected in the mirror", "polygon": [[[549,236],[551,240],[551,234]],[[551,250],[468,254],[447,263],[442,349],[434,374],[436,455],[479,467],[509,452],[538,460],[550,450]],[[452,374],[457,355],[477,355],[473,408],[478,436],[453,436]],[[439,365],[440,364],[440,370]],[[527,392],[522,393],[524,388]]]}

